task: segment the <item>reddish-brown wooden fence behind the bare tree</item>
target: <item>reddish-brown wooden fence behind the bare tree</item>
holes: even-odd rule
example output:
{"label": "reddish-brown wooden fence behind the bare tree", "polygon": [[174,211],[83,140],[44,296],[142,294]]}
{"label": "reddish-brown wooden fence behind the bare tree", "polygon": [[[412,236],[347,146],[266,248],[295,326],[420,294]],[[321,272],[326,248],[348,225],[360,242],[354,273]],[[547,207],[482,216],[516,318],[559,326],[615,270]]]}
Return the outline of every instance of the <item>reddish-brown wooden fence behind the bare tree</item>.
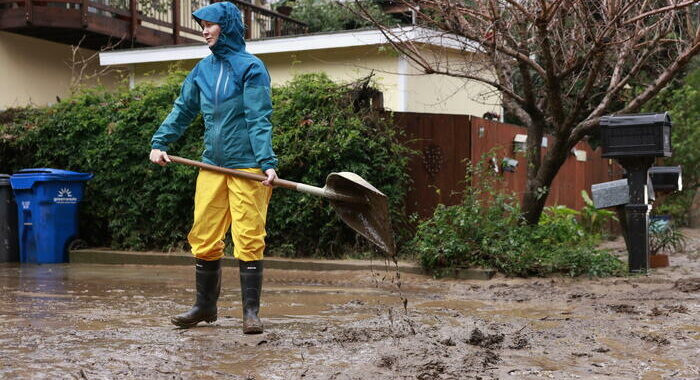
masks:
{"label": "reddish-brown wooden fence behind the bare tree", "polygon": [[[474,116],[425,113],[394,113],[396,125],[405,131],[405,142],[419,152],[411,159],[413,184],[407,195],[407,211],[422,217],[432,214],[439,203],[459,203],[466,188],[468,161],[477,161],[491,152],[501,165],[504,158],[518,161],[515,171],[499,171],[504,186],[522,197],[526,182],[524,152],[514,149],[516,135],[527,135],[523,127],[489,121]],[[551,141],[551,140],[550,140]],[[545,148],[546,149],[546,148]],[[600,149],[581,142],[554,179],[547,205],[584,206],[581,190],[590,194],[591,185],[621,178],[622,168],[603,159]],[[585,160],[583,156],[585,155]]]}

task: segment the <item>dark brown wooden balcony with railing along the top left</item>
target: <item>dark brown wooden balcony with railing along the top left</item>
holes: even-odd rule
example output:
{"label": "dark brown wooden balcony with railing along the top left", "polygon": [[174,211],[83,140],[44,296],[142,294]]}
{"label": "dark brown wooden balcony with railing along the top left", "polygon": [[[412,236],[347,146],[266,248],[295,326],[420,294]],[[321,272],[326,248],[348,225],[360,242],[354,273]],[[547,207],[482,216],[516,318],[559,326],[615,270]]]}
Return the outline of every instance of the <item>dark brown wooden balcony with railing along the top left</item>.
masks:
{"label": "dark brown wooden balcony with railing along the top left", "polygon": [[[246,38],[304,34],[306,24],[241,0]],[[214,1],[212,1],[214,2]],[[106,39],[128,46],[158,46],[203,41],[192,11],[209,0],[0,0],[0,30],[75,44],[104,46]]]}

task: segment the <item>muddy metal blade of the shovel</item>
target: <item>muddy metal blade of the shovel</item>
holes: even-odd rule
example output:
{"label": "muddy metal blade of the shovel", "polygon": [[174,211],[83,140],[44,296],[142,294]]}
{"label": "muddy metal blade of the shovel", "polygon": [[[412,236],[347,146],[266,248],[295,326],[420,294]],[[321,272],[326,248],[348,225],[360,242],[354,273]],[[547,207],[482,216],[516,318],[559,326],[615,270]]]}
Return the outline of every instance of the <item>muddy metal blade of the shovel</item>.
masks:
{"label": "muddy metal blade of the shovel", "polygon": [[389,219],[389,204],[384,193],[351,172],[329,174],[326,178],[325,190],[353,200],[329,197],[331,206],[345,224],[376,244],[389,256],[396,254],[394,234]]}

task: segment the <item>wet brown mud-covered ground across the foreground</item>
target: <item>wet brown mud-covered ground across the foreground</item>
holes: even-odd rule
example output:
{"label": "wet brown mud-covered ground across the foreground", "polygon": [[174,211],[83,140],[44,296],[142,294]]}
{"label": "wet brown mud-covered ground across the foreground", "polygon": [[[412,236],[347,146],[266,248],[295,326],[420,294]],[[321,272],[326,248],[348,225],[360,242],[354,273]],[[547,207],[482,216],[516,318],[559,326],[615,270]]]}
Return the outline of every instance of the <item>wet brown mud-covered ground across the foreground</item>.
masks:
{"label": "wet brown mud-covered ground across the foreground", "polygon": [[219,320],[180,330],[193,268],[0,264],[0,378],[698,379],[700,230],[685,233],[689,252],[648,276],[403,275],[407,312],[382,263],[268,270],[258,336],[240,332],[234,268]]}

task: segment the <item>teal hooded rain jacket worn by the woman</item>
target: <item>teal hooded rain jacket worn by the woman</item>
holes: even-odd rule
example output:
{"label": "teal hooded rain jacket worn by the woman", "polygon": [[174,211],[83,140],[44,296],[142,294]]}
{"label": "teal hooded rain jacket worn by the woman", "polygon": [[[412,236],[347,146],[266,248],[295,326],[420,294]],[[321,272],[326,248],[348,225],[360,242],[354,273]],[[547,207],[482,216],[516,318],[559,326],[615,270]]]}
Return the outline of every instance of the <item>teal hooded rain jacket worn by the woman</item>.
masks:
{"label": "teal hooded rain jacket worn by the woman", "polygon": [[241,12],[229,2],[200,8],[197,21],[219,24],[213,54],[192,69],[170,115],[151,139],[151,147],[167,151],[192,119],[204,118],[202,161],[227,168],[276,168],[272,151],[270,75],[265,64],[245,50]]}

